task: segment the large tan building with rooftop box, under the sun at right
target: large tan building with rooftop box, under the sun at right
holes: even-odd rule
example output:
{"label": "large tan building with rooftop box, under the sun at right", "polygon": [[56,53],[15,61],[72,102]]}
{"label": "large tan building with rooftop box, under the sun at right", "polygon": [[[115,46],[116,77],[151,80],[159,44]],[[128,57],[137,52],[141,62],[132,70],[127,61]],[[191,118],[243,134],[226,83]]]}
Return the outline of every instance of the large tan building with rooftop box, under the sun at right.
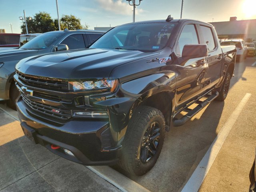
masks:
{"label": "large tan building with rooftop box, under the sun at right", "polygon": [[236,20],[210,23],[216,29],[219,39],[241,38],[246,42],[256,41],[256,19]]}

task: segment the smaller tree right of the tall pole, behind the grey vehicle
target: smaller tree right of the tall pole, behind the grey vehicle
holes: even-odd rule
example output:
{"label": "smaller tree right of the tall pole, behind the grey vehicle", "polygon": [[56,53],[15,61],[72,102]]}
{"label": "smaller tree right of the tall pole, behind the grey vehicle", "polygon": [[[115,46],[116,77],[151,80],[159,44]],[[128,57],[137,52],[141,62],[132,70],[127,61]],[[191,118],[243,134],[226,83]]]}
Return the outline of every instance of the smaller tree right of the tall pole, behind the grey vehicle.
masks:
{"label": "smaller tree right of the tall pole, behind the grey vehicle", "polygon": [[[58,20],[54,20],[55,27],[58,29]],[[88,28],[88,25],[82,26],[80,18],[77,18],[74,15],[63,15],[60,18],[60,29],[64,30],[67,28],[68,30],[78,30]]]}

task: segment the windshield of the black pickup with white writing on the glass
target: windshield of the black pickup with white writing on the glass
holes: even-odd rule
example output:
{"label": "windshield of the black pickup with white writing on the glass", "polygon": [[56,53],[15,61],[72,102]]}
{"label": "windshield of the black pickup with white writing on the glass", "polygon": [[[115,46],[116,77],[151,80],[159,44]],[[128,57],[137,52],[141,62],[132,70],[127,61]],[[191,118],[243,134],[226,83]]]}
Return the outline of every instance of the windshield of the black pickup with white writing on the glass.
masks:
{"label": "windshield of the black pickup with white writing on the glass", "polygon": [[98,39],[90,48],[154,52],[166,46],[176,23],[144,23],[118,26]]}

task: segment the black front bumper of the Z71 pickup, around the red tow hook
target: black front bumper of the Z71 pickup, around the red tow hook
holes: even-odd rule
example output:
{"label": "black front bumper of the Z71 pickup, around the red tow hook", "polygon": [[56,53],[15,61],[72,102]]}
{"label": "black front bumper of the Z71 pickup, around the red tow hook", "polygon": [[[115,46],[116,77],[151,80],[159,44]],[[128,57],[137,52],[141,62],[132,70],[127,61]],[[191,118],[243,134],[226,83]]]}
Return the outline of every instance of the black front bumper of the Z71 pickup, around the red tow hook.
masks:
{"label": "black front bumper of the Z71 pickup, around the red tow hook", "polygon": [[[18,116],[23,128],[34,130],[34,140],[51,152],[84,165],[111,165],[118,161],[121,145],[109,146],[110,128],[108,121],[71,120],[66,124],[50,124],[30,110],[22,98],[16,102]],[[106,138],[108,138],[106,140]],[[51,144],[60,146],[54,150]],[[74,156],[66,154],[64,149]]]}

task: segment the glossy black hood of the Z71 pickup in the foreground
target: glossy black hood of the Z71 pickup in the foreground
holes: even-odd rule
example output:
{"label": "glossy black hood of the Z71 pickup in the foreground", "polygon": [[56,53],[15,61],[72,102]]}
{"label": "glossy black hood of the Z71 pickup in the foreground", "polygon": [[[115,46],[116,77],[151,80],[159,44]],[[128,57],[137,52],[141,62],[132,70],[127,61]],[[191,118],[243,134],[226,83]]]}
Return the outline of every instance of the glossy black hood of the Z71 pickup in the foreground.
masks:
{"label": "glossy black hood of the Z71 pickup in the foreground", "polygon": [[134,50],[82,49],[30,57],[16,69],[24,74],[67,79],[108,78],[119,65],[159,54]]}

